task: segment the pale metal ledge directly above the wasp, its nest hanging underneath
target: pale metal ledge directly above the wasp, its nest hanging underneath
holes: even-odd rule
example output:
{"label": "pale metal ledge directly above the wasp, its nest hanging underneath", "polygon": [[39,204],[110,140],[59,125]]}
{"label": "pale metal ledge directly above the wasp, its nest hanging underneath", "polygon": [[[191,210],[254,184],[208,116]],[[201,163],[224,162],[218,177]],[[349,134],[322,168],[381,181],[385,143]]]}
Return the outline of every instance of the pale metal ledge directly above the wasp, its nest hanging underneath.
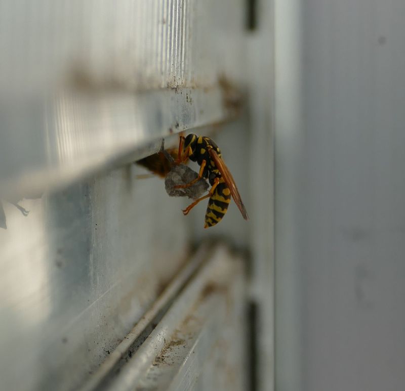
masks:
{"label": "pale metal ledge directly above the wasp, its nest hanging underneath", "polygon": [[1,196],[35,197],[152,154],[162,137],[227,120],[225,95],[217,85],[2,102]]}

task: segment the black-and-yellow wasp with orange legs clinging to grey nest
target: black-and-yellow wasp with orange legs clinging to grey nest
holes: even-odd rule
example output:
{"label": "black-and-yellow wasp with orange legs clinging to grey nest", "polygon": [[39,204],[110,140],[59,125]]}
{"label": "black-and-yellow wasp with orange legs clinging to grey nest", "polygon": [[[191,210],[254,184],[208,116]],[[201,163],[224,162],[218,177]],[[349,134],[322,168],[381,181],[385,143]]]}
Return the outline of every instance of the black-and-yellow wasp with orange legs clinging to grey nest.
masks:
{"label": "black-and-yellow wasp with orange legs clinging to grey nest", "polygon": [[183,210],[186,215],[198,202],[209,198],[205,216],[204,228],[213,227],[219,223],[228,210],[231,196],[245,220],[249,219],[245,205],[242,202],[232,175],[222,160],[221,150],[209,137],[190,134],[180,136],[177,162],[186,159],[195,161],[200,166],[198,177],[185,185],[175,186],[185,188],[192,186],[201,178],[208,179],[211,189],[208,194],[198,198]]}

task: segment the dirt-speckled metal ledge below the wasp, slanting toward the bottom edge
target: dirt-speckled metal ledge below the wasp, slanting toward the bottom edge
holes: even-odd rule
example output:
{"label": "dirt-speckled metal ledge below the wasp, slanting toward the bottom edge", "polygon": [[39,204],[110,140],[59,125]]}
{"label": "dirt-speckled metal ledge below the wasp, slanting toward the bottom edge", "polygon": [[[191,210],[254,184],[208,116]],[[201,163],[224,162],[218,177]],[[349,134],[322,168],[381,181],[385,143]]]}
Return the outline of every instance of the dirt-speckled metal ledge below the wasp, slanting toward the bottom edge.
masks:
{"label": "dirt-speckled metal ledge below the wasp, slanting toward the bottom edge", "polygon": [[[118,373],[96,389],[189,389],[187,372],[195,378],[212,354],[230,315],[236,287],[242,296],[242,263],[225,246],[191,279],[145,342]],[[236,286],[235,286],[236,284]],[[88,389],[88,388],[87,388]]]}

